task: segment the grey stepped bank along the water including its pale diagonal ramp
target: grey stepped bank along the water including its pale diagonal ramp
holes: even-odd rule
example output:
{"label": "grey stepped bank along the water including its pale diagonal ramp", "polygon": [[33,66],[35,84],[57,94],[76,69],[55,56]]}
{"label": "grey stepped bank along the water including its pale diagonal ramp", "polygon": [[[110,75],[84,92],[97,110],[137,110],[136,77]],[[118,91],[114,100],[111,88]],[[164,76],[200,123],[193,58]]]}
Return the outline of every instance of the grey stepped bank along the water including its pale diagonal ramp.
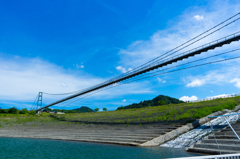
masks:
{"label": "grey stepped bank along the water including its pale diagonal ramp", "polygon": [[[238,106],[236,109],[240,109]],[[222,115],[227,111],[219,111],[209,116]],[[0,137],[24,137],[56,140],[74,140],[83,142],[98,142],[132,146],[158,146],[188,132],[210,119],[201,118],[193,123],[183,125],[183,122],[154,123],[141,125],[127,124],[80,124],[28,126],[15,125],[0,127]]]}

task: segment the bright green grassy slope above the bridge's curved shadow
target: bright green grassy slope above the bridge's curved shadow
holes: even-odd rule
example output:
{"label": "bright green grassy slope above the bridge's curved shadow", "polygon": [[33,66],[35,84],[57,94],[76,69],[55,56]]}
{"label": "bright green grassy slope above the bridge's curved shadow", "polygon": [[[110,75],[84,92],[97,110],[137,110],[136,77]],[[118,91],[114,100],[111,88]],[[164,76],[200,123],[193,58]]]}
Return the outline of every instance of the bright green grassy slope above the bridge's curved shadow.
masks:
{"label": "bright green grassy slope above the bridge's curved shadow", "polygon": [[60,120],[86,123],[148,123],[179,120],[194,121],[223,109],[234,109],[240,104],[240,97],[219,98],[196,103],[169,104],[109,112],[71,113],[54,115]]}

